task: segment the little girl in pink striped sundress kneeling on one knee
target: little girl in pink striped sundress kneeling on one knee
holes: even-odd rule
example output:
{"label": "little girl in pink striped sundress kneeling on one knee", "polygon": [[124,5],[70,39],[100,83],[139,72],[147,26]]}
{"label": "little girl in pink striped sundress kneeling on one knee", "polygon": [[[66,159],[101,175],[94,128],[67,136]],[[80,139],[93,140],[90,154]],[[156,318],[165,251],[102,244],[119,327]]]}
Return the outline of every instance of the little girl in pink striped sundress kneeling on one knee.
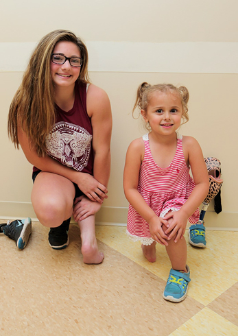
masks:
{"label": "little girl in pink striped sundress kneeling on one knee", "polygon": [[150,132],[132,141],[124,171],[124,190],[130,202],[128,235],[141,241],[151,263],[156,261],[156,242],[165,245],[172,268],[163,297],[173,302],[185,299],[190,282],[183,237],[187,220],[198,221],[198,206],[209,191],[200,145],[191,136],[176,132],[182,119],[189,120],[188,100],[185,86],[145,82],[139,86],[134,109],[139,106]]}

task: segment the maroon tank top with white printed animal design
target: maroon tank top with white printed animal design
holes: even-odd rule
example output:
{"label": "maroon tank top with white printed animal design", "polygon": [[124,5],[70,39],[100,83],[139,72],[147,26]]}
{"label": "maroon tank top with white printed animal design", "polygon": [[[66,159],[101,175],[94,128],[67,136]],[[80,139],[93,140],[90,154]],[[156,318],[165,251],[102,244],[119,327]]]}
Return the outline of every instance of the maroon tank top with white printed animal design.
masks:
{"label": "maroon tank top with white printed animal design", "polygon": [[46,139],[47,154],[62,165],[93,175],[92,139],[91,118],[86,110],[86,84],[75,83],[73,108],[65,112],[56,105],[56,123]]}

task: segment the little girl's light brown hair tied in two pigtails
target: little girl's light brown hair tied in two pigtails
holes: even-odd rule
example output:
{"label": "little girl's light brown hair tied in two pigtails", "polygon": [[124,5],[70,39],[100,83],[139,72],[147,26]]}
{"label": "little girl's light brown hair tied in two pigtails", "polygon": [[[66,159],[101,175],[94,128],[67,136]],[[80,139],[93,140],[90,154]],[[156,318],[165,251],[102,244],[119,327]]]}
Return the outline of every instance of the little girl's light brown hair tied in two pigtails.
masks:
{"label": "little girl's light brown hair tied in two pigtails", "polygon": [[[182,103],[182,119],[183,123],[187,123],[189,121],[188,115],[188,106],[187,103],[189,101],[189,91],[185,86],[174,86],[173,84],[156,84],[150,85],[147,82],[143,82],[139,85],[136,93],[136,102],[134,104],[134,108],[132,111],[132,115],[134,117],[134,110],[138,107],[140,110],[147,111],[147,106],[150,103],[150,95],[156,91],[161,92],[176,92],[181,98]],[[150,130],[150,125],[146,124],[145,128]]]}

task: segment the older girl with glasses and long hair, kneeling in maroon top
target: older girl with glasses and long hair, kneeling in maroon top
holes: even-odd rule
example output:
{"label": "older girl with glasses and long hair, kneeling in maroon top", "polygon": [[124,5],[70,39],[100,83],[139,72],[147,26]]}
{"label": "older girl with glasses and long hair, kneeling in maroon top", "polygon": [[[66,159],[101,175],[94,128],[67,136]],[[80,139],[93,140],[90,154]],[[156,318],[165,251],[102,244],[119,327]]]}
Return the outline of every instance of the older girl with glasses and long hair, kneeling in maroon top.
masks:
{"label": "older girl with glasses and long hair, kneeling in maroon top", "polygon": [[110,173],[112,118],[106,93],[88,79],[88,52],[67,30],[44,36],[34,50],[8,118],[8,132],[34,165],[32,204],[50,228],[49,245],[69,244],[78,221],[84,263],[101,263],[95,213]]}

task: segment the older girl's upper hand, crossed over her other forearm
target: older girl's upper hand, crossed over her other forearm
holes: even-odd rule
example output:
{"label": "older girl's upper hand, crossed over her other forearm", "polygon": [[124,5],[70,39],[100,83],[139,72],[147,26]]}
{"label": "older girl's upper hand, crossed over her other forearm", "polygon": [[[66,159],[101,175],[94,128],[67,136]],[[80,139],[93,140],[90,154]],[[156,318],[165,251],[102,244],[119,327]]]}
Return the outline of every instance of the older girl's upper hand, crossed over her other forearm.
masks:
{"label": "older girl's upper hand, crossed over her other forearm", "polygon": [[99,202],[102,204],[105,198],[108,198],[108,189],[104,185],[98,182],[93,176],[88,173],[80,173],[80,178],[77,181],[73,181],[78,184],[80,190],[93,202]]}

